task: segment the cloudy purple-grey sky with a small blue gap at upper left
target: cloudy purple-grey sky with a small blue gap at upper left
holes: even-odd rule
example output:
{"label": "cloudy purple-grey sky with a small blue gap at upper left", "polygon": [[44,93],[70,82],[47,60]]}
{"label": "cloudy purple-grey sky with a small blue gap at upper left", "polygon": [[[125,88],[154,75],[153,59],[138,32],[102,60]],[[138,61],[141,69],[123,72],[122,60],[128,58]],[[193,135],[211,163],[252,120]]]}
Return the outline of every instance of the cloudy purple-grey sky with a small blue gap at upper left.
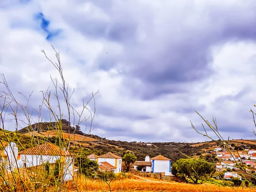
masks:
{"label": "cloudy purple-grey sky with a small blue gap at upper left", "polygon": [[[0,23],[0,73],[22,105],[19,92],[33,91],[31,111],[42,101],[40,91],[54,88],[50,76],[60,82],[41,52],[55,62],[53,45],[78,111],[99,90],[91,134],[138,142],[209,140],[191,126],[203,131],[197,111],[209,122],[216,118],[225,139],[255,139],[254,0],[3,0]],[[32,117],[38,122],[36,113]],[[45,108],[42,117],[50,119]],[[12,119],[5,119],[11,131]],[[84,123],[81,131],[87,131]]]}

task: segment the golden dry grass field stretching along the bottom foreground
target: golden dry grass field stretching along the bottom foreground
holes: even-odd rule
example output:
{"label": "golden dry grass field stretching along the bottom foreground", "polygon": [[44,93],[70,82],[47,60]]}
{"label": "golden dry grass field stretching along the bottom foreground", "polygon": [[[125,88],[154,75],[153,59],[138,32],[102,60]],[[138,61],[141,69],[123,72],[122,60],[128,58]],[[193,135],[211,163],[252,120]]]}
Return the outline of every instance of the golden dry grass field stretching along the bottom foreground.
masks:
{"label": "golden dry grass field stretching along the bottom foreground", "polygon": [[[81,192],[84,191],[109,191],[108,185],[104,181],[89,180],[84,177],[79,178],[77,181],[78,188]],[[70,192],[75,191],[74,183],[67,184],[67,190]],[[235,188],[239,192],[256,192],[256,189]],[[156,192],[235,192],[236,190],[231,187],[217,186],[213,184],[188,184],[167,181],[153,181],[148,182],[140,179],[125,179],[113,180],[111,182],[111,191],[156,191]]]}

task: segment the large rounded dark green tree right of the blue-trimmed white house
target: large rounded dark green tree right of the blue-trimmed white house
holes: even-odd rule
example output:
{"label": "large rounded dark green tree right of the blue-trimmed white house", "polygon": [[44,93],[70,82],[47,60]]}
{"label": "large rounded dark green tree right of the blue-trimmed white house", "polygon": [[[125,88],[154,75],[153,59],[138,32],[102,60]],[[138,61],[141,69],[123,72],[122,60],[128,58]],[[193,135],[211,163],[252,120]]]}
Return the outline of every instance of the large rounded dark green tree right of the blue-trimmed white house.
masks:
{"label": "large rounded dark green tree right of the blue-trimmed white house", "polygon": [[172,166],[172,174],[186,178],[189,177],[194,183],[198,183],[198,179],[203,177],[212,177],[215,167],[207,162],[192,159],[177,160]]}

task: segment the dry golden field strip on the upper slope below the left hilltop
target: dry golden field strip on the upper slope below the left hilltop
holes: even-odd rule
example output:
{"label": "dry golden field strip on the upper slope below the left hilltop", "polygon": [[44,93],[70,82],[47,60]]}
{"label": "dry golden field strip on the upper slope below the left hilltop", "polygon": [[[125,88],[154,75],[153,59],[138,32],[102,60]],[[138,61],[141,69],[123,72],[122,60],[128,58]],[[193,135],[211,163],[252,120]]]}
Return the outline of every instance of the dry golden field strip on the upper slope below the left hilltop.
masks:
{"label": "dry golden field strip on the upper slope below the left hilltop", "polygon": [[[57,137],[57,134],[55,131],[46,131],[43,133],[37,133],[37,132],[29,132],[26,133],[24,135],[29,135],[29,136],[33,136],[33,135],[38,135],[40,137]],[[91,137],[85,137],[79,134],[68,134],[68,133],[63,133],[63,136],[65,139],[69,139],[69,140],[75,140],[75,141],[97,141],[94,138]]]}

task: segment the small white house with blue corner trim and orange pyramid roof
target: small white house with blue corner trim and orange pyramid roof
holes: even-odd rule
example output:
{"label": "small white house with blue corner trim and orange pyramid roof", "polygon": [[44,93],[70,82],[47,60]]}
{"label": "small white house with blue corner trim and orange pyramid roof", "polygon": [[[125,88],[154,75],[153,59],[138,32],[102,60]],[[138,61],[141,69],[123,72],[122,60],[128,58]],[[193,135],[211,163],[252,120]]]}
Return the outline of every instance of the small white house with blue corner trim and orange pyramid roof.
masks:
{"label": "small white house with blue corner trim and orange pyramid roof", "polygon": [[153,173],[165,173],[165,175],[171,175],[171,160],[158,155],[150,159],[152,163]]}

